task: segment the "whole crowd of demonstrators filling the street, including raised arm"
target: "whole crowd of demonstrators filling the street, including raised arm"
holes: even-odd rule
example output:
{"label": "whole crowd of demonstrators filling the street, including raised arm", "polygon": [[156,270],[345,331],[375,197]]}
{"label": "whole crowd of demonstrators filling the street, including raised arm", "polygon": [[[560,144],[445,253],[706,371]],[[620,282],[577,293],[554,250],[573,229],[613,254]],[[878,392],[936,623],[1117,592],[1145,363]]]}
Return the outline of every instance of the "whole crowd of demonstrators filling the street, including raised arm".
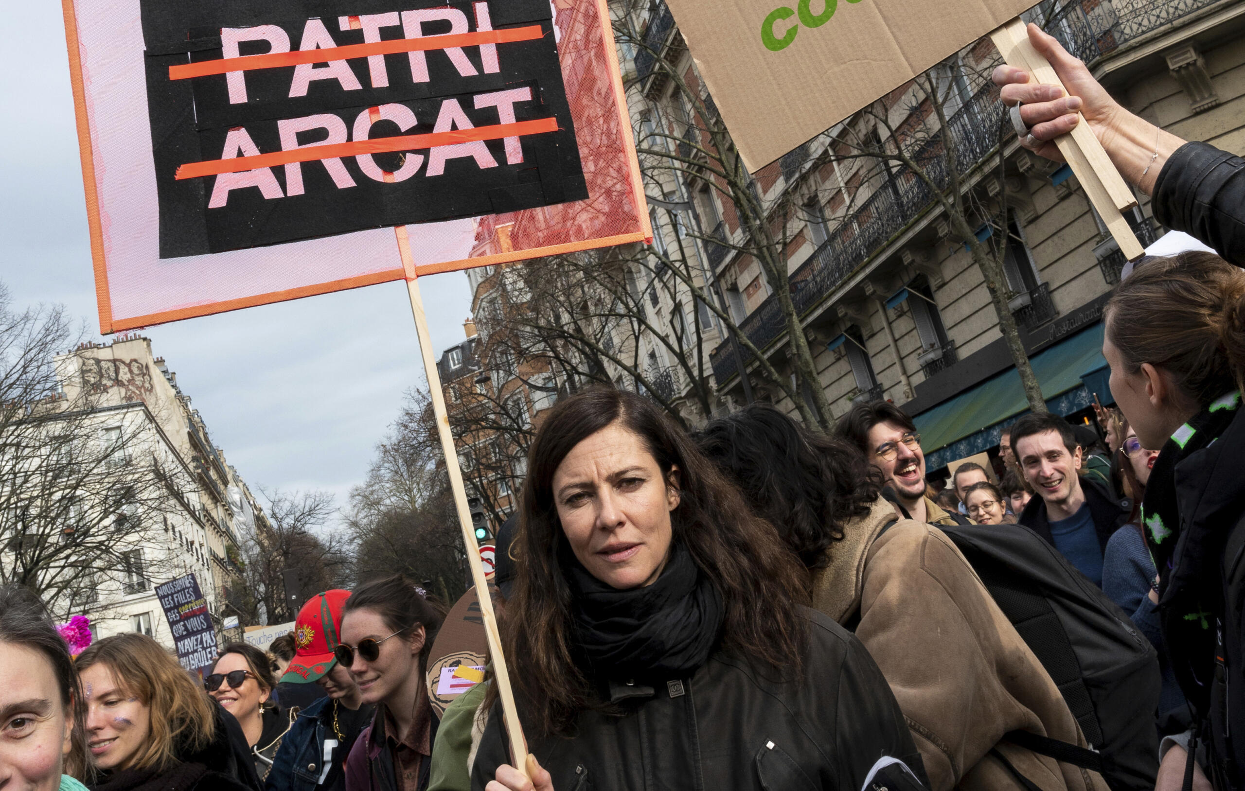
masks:
{"label": "whole crowd of demonstrators filling the street, including raised arm", "polygon": [[497,536],[524,766],[492,673],[432,706],[444,608],[400,575],[319,593],[271,654],[227,644],[202,679],[138,633],[71,657],[5,587],[0,789],[1245,787],[1245,163],[1030,36],[1071,93],[995,72],[1022,144],[1057,157],[1083,117],[1223,254],[1117,286],[1104,443],[1026,414],[1001,476],[935,488],[890,403],[832,435],[763,404],[688,434],[584,391],[544,415]]}

